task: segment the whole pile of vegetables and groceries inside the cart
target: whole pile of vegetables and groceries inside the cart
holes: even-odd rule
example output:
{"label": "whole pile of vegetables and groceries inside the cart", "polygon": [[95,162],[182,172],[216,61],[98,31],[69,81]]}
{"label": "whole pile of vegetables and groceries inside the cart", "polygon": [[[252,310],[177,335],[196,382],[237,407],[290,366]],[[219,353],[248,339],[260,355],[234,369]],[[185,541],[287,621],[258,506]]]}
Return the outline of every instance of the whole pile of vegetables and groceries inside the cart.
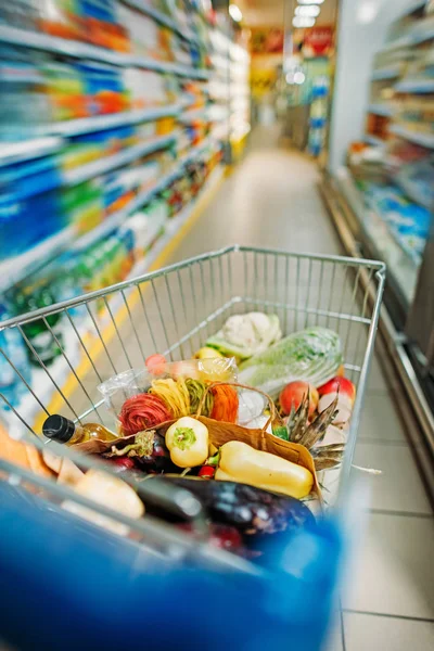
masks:
{"label": "whole pile of vegetables and groceries inside the cart", "polygon": [[312,521],[308,507],[322,500],[318,473],[342,461],[356,396],[335,332],[317,327],[282,339],[278,317],[260,312],[230,317],[194,359],[170,362],[154,354],[145,368],[99,390],[112,430],[53,414],[43,434],[100,456],[118,476],[84,473],[48,452],[44,463],[59,480],[66,473],[89,499],[131,518],[146,510],[182,528],[189,524],[159,505],[143,505],[127,482],[133,475],[188,488],[208,514],[210,541],[247,558],[260,558],[270,534]]}

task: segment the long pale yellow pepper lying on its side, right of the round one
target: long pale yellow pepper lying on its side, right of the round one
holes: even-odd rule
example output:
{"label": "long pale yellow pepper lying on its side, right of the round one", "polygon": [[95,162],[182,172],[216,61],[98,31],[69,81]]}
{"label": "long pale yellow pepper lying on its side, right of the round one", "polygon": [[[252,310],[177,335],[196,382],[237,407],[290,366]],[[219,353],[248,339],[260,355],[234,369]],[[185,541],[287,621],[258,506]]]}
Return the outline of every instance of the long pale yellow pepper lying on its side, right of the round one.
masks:
{"label": "long pale yellow pepper lying on its side, right of the round one", "polygon": [[314,475],[307,468],[276,455],[255,450],[240,441],[230,441],[221,446],[215,478],[250,484],[296,498],[309,495],[314,485]]}

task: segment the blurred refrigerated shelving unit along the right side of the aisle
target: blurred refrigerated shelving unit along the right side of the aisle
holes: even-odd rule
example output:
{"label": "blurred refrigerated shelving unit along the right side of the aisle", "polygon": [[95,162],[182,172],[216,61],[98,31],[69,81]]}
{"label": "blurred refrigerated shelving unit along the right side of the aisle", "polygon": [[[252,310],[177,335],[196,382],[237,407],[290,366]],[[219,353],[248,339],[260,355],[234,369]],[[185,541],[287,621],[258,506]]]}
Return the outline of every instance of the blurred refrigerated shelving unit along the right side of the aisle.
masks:
{"label": "blurred refrigerated shelving unit along the right side of the aisle", "polygon": [[387,264],[391,370],[433,461],[434,2],[386,2],[353,16],[344,2],[342,20],[322,190],[348,252]]}

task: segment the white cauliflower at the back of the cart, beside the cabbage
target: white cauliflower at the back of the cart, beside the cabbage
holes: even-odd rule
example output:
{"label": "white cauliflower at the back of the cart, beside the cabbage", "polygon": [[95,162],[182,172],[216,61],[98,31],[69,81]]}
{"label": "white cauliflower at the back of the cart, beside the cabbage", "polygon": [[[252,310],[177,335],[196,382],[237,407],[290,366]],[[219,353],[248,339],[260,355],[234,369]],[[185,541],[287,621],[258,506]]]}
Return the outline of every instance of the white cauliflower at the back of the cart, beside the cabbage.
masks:
{"label": "white cauliflower at the back of the cart, beside the cabbage", "polygon": [[221,330],[207,340],[206,345],[229,357],[233,355],[239,359],[247,359],[266,350],[281,336],[279,317],[248,312],[229,317]]}

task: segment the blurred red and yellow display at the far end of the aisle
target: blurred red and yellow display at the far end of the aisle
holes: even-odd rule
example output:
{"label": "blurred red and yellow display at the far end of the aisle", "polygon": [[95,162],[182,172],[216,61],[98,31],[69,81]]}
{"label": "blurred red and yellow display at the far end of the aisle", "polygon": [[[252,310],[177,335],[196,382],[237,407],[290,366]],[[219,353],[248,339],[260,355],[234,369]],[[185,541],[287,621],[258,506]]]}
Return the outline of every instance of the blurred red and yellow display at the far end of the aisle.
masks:
{"label": "blurred red and yellow display at the far end of the aisle", "polygon": [[[316,4],[302,9],[320,12]],[[259,123],[270,122],[276,111],[283,137],[318,157],[327,150],[334,25],[309,25],[295,15],[289,34],[252,29],[252,98]]]}

